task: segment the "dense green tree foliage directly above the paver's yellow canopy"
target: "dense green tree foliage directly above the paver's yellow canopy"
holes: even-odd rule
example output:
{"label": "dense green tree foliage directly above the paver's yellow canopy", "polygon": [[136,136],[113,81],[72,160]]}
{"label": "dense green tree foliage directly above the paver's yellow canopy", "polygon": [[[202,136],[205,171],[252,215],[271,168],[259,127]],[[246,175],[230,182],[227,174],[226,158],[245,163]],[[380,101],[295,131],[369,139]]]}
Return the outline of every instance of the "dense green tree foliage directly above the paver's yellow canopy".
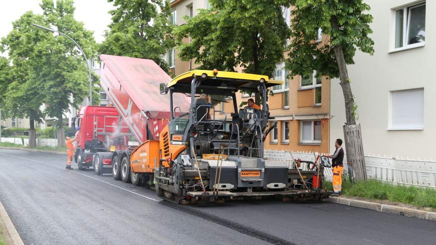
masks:
{"label": "dense green tree foliage directly above the paver's yellow canopy", "polygon": [[[271,76],[283,60],[290,31],[284,8],[275,0],[210,0],[173,34],[181,60],[195,59],[201,69],[237,71]],[[190,37],[190,42],[186,38]],[[260,94],[256,93],[256,103]]]}

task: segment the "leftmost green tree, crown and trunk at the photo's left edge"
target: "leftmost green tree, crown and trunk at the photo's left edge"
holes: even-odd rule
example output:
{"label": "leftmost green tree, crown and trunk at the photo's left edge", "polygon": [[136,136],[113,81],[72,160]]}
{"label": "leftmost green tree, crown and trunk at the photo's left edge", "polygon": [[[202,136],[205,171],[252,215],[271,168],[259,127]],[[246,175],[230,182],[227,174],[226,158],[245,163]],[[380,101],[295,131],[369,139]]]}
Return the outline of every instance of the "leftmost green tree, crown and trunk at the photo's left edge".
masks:
{"label": "leftmost green tree, crown and trunk at the photo's left edge", "polygon": [[[35,54],[36,42],[44,38],[32,31],[31,23],[45,24],[40,15],[31,11],[23,14],[13,22],[13,30],[2,39],[2,50],[7,49],[12,66],[8,68],[8,79],[0,85],[1,106],[4,117],[27,117],[35,135],[35,121],[41,122],[44,116],[40,106],[43,94],[38,83],[31,82],[32,56]],[[45,33],[46,34],[46,33]],[[30,138],[30,146],[36,145],[36,137]]]}

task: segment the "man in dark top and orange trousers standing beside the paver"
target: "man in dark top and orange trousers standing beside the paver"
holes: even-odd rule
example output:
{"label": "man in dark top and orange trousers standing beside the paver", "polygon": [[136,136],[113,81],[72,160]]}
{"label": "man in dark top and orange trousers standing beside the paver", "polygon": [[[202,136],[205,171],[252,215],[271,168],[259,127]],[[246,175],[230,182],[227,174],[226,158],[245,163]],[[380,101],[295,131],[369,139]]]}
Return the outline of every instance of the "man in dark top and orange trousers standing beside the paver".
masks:
{"label": "man in dark top and orange trousers standing beside the paver", "polygon": [[344,170],[344,149],[342,149],[342,139],[338,138],[335,141],[335,153],[327,155],[332,158],[332,171],[333,171],[333,194],[332,196],[339,196],[342,194],[342,170]]}

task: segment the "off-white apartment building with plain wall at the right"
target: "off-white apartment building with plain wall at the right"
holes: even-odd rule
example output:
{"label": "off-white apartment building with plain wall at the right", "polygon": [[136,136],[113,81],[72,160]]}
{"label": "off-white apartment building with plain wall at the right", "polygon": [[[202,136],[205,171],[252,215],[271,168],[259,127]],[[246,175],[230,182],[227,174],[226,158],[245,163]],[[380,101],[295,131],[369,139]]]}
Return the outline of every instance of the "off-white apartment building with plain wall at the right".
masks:
{"label": "off-white apartment building with plain wall at the right", "polygon": [[[357,52],[348,65],[365,154],[436,159],[436,1],[365,0],[374,55]],[[342,138],[345,107],[332,80],[332,138]]]}

